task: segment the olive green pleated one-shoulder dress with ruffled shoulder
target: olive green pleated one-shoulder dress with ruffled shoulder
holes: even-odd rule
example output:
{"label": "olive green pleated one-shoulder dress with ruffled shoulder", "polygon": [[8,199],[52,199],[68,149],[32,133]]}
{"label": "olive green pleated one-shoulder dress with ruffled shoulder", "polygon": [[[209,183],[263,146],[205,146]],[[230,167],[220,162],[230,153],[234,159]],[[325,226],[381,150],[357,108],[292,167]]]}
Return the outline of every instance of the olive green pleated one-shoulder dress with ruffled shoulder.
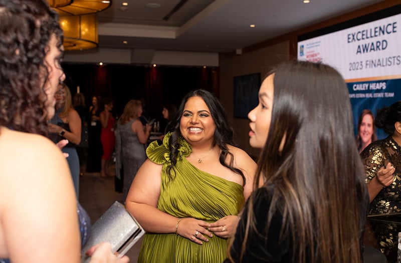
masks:
{"label": "olive green pleated one-shoulder dress with ruffled shoulder", "polygon": [[[178,218],[193,217],[208,222],[238,214],[244,204],[243,187],[189,163],[185,156],[192,148],[183,138],[180,138],[175,177],[169,179],[166,173],[169,137],[167,134],[160,146],[157,142],[151,143],[146,150],[151,161],[163,164],[157,208]],[[227,246],[228,240],[217,235],[199,245],[175,233],[146,232],[138,262],[221,263],[227,257]]]}

